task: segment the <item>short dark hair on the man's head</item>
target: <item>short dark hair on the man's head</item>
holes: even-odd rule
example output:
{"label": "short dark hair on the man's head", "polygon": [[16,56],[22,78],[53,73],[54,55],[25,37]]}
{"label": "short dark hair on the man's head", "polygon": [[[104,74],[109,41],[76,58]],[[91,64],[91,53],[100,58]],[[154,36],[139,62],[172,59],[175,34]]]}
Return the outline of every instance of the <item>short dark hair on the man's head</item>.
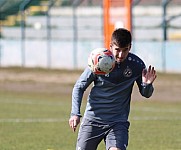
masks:
{"label": "short dark hair on the man's head", "polygon": [[118,28],[112,33],[111,44],[115,44],[118,47],[126,47],[131,45],[131,42],[132,36],[127,29]]}

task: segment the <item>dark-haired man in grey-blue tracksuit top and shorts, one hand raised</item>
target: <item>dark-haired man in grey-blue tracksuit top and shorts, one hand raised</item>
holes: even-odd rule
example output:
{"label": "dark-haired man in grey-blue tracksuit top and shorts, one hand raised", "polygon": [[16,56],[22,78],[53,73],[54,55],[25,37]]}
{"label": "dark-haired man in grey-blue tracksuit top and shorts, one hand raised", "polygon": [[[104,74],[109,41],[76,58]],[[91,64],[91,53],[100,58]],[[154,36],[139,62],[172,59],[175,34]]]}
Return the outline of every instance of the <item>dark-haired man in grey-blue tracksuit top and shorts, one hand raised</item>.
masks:
{"label": "dark-haired man in grey-blue tracksuit top and shorts, one hand raised", "polygon": [[153,93],[156,79],[154,67],[145,68],[144,62],[130,53],[131,33],[116,29],[111,37],[110,50],[116,65],[108,75],[96,75],[88,67],[77,80],[72,92],[72,111],[69,125],[76,130],[80,123],[80,106],[84,91],[93,82],[78,133],[77,150],[96,150],[104,140],[106,150],[126,150],[128,145],[128,116],[131,93],[136,81],[142,96]]}

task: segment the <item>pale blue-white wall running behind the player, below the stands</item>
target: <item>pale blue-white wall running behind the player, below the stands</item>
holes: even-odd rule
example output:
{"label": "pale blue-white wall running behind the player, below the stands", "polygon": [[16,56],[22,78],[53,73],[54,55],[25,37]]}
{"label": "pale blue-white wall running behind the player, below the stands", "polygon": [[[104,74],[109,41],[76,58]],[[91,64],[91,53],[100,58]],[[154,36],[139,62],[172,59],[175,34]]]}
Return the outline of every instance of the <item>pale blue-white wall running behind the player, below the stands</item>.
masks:
{"label": "pale blue-white wall running behind the player, below the stands", "polygon": [[[1,41],[0,65],[43,67],[57,69],[83,69],[91,50],[103,47],[103,41],[79,41],[77,51],[69,41],[52,41],[50,55],[45,40],[25,42],[25,55],[22,55],[21,41]],[[140,56],[146,65],[153,65],[160,72],[181,73],[181,42],[133,41],[131,50]],[[24,58],[23,58],[24,57]],[[25,59],[25,62],[23,62]]]}

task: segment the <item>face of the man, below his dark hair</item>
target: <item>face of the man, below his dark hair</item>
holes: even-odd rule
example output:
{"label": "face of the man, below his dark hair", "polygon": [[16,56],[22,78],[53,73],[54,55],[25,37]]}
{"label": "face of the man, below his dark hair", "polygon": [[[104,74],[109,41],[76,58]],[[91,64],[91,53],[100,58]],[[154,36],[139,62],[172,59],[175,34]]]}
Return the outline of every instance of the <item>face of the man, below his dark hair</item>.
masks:
{"label": "face of the man, below his dark hair", "polygon": [[123,62],[131,49],[131,45],[126,47],[118,47],[115,44],[110,44],[110,50],[112,51],[116,61],[118,63]]}

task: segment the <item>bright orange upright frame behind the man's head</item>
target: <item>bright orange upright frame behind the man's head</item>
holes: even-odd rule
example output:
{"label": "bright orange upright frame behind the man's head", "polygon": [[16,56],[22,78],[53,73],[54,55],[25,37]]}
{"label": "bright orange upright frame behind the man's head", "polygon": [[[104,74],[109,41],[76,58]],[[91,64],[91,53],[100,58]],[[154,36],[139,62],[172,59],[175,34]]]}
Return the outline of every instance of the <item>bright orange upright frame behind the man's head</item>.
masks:
{"label": "bright orange upright frame behind the man's head", "polygon": [[109,48],[114,29],[132,30],[132,0],[103,0],[104,46]]}

